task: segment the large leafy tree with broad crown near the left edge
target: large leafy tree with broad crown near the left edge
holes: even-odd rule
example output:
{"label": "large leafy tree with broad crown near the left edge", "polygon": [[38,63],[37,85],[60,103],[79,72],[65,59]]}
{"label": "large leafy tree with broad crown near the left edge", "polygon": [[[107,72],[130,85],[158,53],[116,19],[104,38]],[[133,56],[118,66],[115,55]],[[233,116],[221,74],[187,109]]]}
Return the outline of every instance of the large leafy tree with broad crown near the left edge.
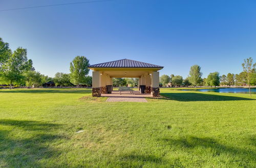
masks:
{"label": "large leafy tree with broad crown near the left edge", "polygon": [[32,61],[28,61],[27,49],[17,48],[8,60],[2,65],[2,80],[10,84],[10,89],[14,82],[19,82],[24,78],[24,72],[30,70]]}

